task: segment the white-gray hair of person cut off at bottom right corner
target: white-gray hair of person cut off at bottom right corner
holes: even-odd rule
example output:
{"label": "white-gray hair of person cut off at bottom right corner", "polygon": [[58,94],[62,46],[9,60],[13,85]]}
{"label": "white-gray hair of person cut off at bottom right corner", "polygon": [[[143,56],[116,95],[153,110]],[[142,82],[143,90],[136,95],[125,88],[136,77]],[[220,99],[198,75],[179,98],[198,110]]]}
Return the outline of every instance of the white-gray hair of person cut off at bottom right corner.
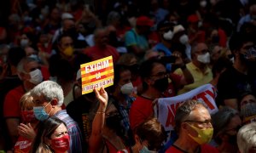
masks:
{"label": "white-gray hair of person cut off at bottom right corner", "polygon": [[241,153],[247,153],[250,149],[256,147],[256,122],[240,128],[237,133],[237,145]]}

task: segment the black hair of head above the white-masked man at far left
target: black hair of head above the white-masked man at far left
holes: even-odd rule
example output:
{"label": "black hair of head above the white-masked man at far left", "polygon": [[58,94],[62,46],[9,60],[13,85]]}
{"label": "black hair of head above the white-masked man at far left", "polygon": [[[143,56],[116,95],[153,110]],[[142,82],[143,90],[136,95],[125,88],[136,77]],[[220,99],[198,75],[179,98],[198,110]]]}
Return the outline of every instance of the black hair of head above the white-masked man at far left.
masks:
{"label": "black hair of head above the white-masked man at far left", "polygon": [[10,65],[17,66],[22,58],[26,57],[26,52],[23,48],[10,48],[8,52],[8,61]]}

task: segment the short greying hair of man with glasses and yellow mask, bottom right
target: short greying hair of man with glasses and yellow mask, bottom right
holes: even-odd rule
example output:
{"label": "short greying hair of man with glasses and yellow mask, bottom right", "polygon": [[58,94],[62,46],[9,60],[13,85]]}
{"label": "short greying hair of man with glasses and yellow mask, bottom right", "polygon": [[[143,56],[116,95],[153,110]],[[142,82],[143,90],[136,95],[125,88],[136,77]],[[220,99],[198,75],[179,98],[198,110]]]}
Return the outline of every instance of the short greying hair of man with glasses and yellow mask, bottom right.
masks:
{"label": "short greying hair of man with glasses and yellow mask, bottom right", "polygon": [[[195,110],[197,107],[204,107],[206,108],[205,105],[203,105],[201,102],[195,100],[195,99],[189,99],[183,102],[182,105],[180,105],[177,108],[174,121],[175,121],[175,130],[177,133],[180,131],[181,124],[189,118],[189,115],[192,111]],[[207,109],[207,108],[206,108]]]}

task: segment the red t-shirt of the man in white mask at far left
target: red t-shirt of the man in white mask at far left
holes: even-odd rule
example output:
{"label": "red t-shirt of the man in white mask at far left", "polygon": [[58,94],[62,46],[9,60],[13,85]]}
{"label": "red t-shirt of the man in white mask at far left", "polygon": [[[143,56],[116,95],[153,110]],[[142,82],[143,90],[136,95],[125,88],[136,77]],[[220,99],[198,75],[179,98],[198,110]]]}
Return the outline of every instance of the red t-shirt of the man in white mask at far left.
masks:
{"label": "red t-shirt of the man in white mask at far left", "polygon": [[26,91],[22,85],[6,94],[3,102],[4,117],[20,117],[20,98]]}

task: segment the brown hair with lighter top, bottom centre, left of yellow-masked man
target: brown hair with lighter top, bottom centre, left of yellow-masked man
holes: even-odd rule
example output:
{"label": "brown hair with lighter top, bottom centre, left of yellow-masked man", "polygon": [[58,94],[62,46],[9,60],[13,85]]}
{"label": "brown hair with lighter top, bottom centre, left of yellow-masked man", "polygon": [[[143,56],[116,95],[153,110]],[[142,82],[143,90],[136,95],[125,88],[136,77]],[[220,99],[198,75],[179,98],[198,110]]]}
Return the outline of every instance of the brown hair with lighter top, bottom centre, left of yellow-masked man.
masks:
{"label": "brown hair with lighter top, bottom centre, left of yellow-masked man", "polygon": [[148,141],[149,150],[159,150],[166,139],[165,129],[156,118],[150,118],[138,125],[135,133],[142,141]]}

